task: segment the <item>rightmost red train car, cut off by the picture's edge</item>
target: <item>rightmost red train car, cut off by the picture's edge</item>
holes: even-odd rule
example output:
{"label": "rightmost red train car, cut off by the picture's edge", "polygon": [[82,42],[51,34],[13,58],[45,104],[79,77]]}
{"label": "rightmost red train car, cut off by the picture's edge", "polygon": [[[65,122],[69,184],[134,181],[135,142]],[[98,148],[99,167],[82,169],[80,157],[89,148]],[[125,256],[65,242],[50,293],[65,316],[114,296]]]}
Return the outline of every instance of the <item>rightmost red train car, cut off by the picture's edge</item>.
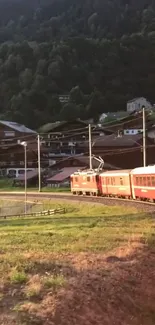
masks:
{"label": "rightmost red train car, cut off by the picture's edge", "polygon": [[135,168],[131,171],[134,199],[155,202],[155,166]]}

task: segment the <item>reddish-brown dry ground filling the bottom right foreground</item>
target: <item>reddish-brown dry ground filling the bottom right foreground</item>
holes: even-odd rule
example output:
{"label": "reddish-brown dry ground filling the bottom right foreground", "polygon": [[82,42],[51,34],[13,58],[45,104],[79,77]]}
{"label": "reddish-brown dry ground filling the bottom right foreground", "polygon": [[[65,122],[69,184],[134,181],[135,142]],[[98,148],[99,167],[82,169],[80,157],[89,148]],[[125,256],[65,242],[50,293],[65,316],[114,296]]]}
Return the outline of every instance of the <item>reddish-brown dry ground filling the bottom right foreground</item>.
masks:
{"label": "reddish-brown dry ground filling the bottom right foreground", "polygon": [[56,292],[44,291],[37,304],[23,299],[21,286],[8,292],[5,288],[0,312],[9,316],[21,303],[23,309],[14,311],[16,321],[10,325],[154,325],[154,243],[150,238],[149,246],[124,249],[122,256],[83,254],[60,256],[59,262],[37,261],[27,272],[63,274],[67,285]]}

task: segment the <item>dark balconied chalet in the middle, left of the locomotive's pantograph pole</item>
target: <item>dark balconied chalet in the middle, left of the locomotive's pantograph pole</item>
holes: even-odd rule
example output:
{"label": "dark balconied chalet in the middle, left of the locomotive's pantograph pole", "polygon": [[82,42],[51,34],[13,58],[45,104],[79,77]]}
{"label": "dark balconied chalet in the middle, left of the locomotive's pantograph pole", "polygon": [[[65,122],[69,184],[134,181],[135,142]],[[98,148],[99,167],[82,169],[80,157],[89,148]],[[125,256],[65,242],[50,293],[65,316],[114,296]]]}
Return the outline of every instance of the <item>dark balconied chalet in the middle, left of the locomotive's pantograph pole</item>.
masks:
{"label": "dark balconied chalet in the middle, left of the locomotive's pantograph pole", "polygon": [[[46,148],[49,148],[49,157],[56,161],[59,157],[83,154],[83,148],[79,144],[86,141],[89,136],[88,122],[80,119],[48,123],[38,132],[42,134]],[[112,131],[108,128],[104,130],[92,124],[92,138],[109,134],[112,134]]]}

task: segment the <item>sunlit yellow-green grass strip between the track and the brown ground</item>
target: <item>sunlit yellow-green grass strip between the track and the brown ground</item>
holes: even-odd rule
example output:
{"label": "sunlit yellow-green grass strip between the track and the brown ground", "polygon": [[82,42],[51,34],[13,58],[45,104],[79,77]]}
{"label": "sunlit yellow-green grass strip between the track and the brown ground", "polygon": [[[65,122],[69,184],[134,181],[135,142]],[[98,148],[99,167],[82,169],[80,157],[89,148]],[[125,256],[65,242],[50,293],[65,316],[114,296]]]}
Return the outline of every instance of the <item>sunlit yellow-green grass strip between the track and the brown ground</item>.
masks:
{"label": "sunlit yellow-green grass strip between the track and the brown ground", "polygon": [[10,258],[13,266],[18,264],[24,252],[106,252],[134,236],[153,236],[152,218],[135,209],[46,202],[43,209],[61,206],[67,211],[64,215],[0,220],[0,250],[4,253],[0,271]]}

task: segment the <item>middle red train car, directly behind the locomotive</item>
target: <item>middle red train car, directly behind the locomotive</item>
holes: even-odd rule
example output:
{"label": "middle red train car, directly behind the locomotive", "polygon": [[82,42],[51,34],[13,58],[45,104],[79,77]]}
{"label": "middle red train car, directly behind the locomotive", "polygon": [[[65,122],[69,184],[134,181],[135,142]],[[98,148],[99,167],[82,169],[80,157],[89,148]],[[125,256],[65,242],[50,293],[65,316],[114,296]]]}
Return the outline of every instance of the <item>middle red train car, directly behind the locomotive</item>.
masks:
{"label": "middle red train car, directly behind the locomotive", "polygon": [[100,174],[100,186],[103,196],[131,198],[131,170],[114,170]]}

